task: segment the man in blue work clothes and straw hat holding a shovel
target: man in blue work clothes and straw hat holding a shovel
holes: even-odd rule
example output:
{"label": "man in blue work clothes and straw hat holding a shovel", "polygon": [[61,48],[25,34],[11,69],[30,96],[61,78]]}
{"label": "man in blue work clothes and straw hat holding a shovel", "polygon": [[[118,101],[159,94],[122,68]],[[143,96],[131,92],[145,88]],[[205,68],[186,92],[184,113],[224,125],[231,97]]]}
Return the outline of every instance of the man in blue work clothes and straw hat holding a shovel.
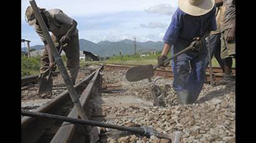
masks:
{"label": "man in blue work clothes and straw hat holding a shovel", "polygon": [[159,65],[165,67],[164,60],[173,45],[172,53],[188,47],[195,41],[196,49],[182,53],[172,60],[174,90],[179,104],[192,104],[199,96],[205,82],[205,59],[207,48],[205,38],[216,30],[214,0],[179,0],[178,8],[164,35],[164,48],[158,58]]}

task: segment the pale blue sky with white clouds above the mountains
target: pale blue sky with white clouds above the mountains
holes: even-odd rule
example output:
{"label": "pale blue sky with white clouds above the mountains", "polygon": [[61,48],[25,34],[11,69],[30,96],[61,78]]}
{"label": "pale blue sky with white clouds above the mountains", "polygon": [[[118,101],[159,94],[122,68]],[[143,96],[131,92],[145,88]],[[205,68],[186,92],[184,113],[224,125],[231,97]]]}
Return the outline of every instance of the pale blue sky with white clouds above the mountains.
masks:
{"label": "pale blue sky with white clouds above the mountains", "polygon": [[[177,8],[175,0],[41,0],[37,6],[59,8],[78,23],[79,39],[161,41]],[[42,45],[39,36],[24,20],[28,0],[21,1],[21,38]],[[22,44],[23,47],[23,44]]]}

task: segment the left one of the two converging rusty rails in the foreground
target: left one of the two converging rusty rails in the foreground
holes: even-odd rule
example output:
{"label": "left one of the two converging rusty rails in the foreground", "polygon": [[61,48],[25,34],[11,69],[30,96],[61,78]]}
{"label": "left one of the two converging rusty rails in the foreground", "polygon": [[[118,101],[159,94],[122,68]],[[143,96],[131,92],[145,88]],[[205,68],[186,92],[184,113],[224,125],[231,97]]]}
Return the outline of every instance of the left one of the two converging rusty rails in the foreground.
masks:
{"label": "left one of the two converging rusty rails in the foreground", "polygon": [[[74,86],[77,92],[81,93],[81,91],[86,88],[87,83],[92,79],[95,73],[96,71]],[[37,108],[35,111],[50,114],[58,113],[66,116],[68,114],[67,107],[71,104],[72,101],[69,96],[69,92],[66,90],[56,98],[49,101],[49,103]],[[48,129],[50,129],[52,126],[61,126],[61,124],[62,122],[51,121],[49,119],[23,117],[21,118],[21,142],[37,142],[39,139],[41,139],[41,137],[44,136]],[[49,138],[51,138],[51,136]]]}

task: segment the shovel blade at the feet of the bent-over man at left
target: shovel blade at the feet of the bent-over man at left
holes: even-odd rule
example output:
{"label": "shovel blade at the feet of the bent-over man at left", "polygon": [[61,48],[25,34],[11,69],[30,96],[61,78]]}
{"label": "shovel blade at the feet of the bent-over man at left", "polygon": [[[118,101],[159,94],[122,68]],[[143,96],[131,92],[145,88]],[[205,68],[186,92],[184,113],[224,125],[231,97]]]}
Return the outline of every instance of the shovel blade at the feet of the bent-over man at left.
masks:
{"label": "shovel blade at the feet of the bent-over man at left", "polygon": [[52,92],[52,78],[42,77],[39,81],[39,95]]}

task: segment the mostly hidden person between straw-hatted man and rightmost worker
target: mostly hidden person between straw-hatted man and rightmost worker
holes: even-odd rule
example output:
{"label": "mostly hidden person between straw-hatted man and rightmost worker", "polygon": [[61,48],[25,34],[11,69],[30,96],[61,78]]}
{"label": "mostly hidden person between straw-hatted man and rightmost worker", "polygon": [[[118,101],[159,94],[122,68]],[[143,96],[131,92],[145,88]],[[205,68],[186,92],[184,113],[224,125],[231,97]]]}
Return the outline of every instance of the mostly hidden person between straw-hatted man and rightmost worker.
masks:
{"label": "mostly hidden person between straw-hatted man and rightmost worker", "polygon": [[[216,6],[216,24],[217,24],[217,30],[210,32],[210,57],[212,58],[213,56],[216,58],[217,62],[220,65],[220,68],[222,68],[222,71],[224,72],[224,62],[220,58],[220,47],[221,47],[221,42],[220,42],[220,16],[222,12],[222,0],[215,0],[215,6]],[[207,37],[208,38],[208,37]],[[207,42],[207,48],[209,46],[208,40]],[[206,58],[206,67],[209,65],[209,57],[207,56]]]}

